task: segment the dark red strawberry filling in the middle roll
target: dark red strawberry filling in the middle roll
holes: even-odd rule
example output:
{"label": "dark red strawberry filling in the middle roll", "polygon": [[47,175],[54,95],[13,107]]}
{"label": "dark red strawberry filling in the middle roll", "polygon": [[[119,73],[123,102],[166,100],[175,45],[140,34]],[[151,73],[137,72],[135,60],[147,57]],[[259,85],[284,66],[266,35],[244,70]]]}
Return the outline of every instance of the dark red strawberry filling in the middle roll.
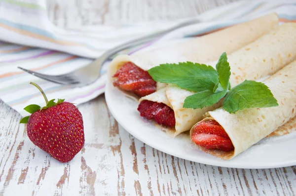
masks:
{"label": "dark red strawberry filling in the middle roll", "polygon": [[163,103],[144,100],[139,104],[141,117],[154,119],[158,124],[174,127],[176,120],[174,111]]}

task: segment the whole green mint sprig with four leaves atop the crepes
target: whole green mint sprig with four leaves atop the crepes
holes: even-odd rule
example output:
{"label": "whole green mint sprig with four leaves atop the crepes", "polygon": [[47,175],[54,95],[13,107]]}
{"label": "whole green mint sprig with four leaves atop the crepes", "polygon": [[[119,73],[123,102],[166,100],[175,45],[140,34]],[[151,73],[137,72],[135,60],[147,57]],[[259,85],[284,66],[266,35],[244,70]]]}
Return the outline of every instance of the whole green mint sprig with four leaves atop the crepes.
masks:
{"label": "whole green mint sprig with four leaves atop the crepes", "polygon": [[268,86],[261,82],[245,80],[231,89],[230,66],[225,52],[222,53],[216,70],[205,64],[184,62],[162,64],[151,68],[148,73],[156,81],[174,83],[183,89],[196,92],[186,97],[184,108],[212,106],[224,97],[223,108],[229,113],[247,108],[278,106]]}

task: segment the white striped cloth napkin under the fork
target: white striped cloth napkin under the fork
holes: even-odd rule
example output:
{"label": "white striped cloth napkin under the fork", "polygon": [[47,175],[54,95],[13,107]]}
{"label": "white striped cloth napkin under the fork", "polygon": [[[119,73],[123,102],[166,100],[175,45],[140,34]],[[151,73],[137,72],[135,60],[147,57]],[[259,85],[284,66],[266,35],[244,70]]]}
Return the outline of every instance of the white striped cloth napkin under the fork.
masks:
{"label": "white striped cloth napkin under the fork", "polygon": [[[277,12],[282,22],[295,21],[296,0],[231,3],[200,15],[200,20],[208,25],[202,28],[196,25],[194,31],[182,36],[201,35],[270,12]],[[65,98],[76,104],[87,102],[104,93],[108,63],[104,65],[103,76],[95,83],[76,88],[36,78],[17,67],[43,74],[64,74],[89,64],[111,47],[175,24],[176,21],[159,21],[66,30],[49,21],[45,0],[0,0],[0,99],[21,115],[27,115],[23,110],[25,106],[44,105],[42,95],[29,84],[33,81],[43,88],[48,99]],[[170,35],[170,39],[180,37],[180,34],[174,36],[174,32]]]}

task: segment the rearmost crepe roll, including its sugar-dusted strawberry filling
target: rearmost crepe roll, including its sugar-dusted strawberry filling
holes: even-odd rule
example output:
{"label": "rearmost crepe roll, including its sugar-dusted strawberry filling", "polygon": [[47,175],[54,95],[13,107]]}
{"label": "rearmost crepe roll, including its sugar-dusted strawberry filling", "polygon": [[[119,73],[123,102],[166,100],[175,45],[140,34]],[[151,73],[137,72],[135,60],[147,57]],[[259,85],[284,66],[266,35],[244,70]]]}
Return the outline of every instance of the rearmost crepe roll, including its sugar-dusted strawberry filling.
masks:
{"label": "rearmost crepe roll, including its sugar-dusted strawberry filling", "polygon": [[277,15],[268,14],[205,36],[184,39],[132,55],[119,55],[111,62],[109,79],[128,96],[138,100],[166,86],[155,82],[149,76],[148,69],[163,63],[214,61],[222,52],[231,53],[277,26]]}

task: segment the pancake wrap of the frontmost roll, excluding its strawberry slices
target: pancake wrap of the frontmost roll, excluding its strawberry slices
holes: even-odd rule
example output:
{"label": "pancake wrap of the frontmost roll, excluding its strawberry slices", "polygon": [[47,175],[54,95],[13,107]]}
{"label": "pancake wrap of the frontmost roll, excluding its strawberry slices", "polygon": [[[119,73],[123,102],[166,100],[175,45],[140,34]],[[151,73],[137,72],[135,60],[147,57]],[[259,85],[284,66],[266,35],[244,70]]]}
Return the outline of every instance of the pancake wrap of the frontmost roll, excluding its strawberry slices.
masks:
{"label": "pancake wrap of the frontmost roll, excluding its strawberry slices", "polygon": [[[208,112],[202,121],[215,119],[228,134],[234,150],[230,152],[203,150],[216,157],[231,159],[294,118],[296,116],[295,75],[296,61],[263,81],[277,99],[279,104],[277,107],[252,108],[235,114],[229,114],[223,108]],[[190,130],[190,137],[193,129],[194,126]]]}

